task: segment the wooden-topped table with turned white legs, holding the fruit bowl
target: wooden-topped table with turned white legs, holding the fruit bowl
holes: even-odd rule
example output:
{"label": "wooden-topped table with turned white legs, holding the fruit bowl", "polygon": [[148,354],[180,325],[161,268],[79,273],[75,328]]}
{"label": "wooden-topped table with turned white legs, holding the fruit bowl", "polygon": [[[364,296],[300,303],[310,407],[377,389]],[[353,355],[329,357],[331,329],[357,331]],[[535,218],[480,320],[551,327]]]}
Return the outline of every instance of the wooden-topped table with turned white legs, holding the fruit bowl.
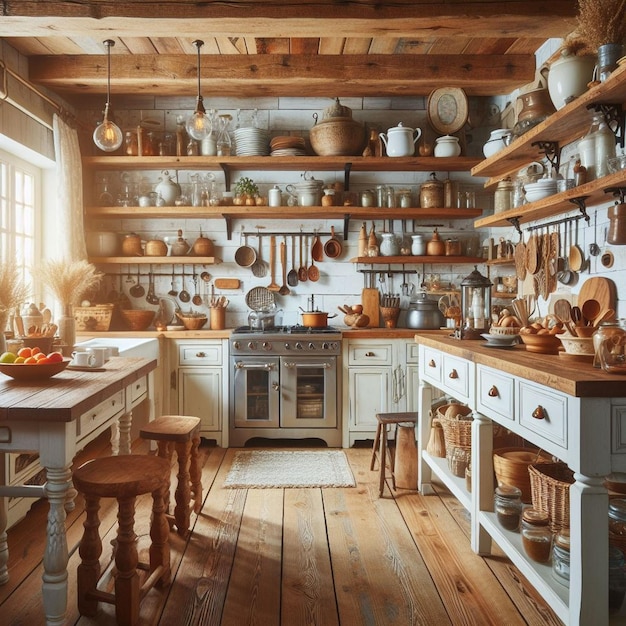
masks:
{"label": "wooden-topped table with turned white legs, holding the fruit bowl", "polygon": [[65,508],[73,506],[75,495],[72,459],[109,427],[114,427],[114,453],[130,453],[132,411],[148,400],[156,365],[156,360],[113,357],[104,371],[66,369],[41,382],[0,376],[0,453],[37,452],[46,470],[43,486],[0,484],[0,584],[9,577],[7,498],[46,497],[50,510],[42,595],[48,625],[63,624],[67,606]]}

